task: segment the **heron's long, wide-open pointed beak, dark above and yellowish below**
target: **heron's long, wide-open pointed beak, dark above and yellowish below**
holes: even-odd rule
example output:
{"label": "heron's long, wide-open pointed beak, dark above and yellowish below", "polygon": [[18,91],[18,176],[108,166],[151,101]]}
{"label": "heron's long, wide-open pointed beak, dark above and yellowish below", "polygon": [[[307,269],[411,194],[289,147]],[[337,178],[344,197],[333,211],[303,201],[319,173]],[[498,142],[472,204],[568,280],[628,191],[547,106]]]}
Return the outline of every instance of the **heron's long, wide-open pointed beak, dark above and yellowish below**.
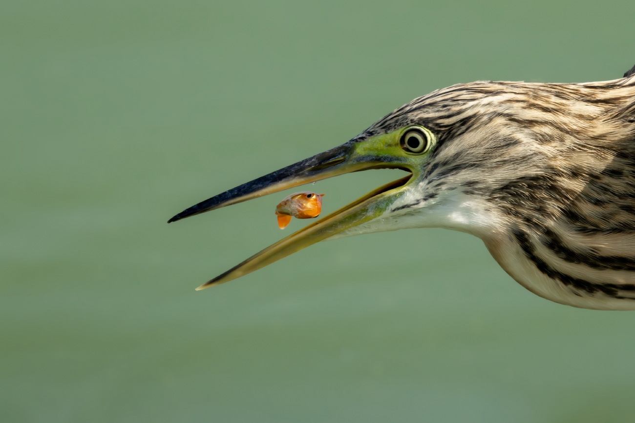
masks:
{"label": "heron's long, wide-open pointed beak, dark above and yellowish below", "polygon": [[[206,211],[220,209],[220,207],[225,207],[226,205],[251,200],[251,198],[262,197],[262,195],[349,172],[382,168],[399,168],[413,172],[411,166],[408,166],[399,157],[364,154],[358,151],[358,148],[356,148],[357,144],[355,141],[349,141],[327,152],[319,153],[309,157],[309,159],[232,188],[180,212],[171,218],[168,223]],[[296,251],[300,251],[311,244],[377,218],[401,195],[412,176],[412,174],[409,174],[404,178],[381,186],[351,204],[345,205],[338,211],[311,223],[311,225],[305,226],[305,228],[249,257],[243,263],[234,266],[222,275],[204,283],[197,290],[239,278]]]}

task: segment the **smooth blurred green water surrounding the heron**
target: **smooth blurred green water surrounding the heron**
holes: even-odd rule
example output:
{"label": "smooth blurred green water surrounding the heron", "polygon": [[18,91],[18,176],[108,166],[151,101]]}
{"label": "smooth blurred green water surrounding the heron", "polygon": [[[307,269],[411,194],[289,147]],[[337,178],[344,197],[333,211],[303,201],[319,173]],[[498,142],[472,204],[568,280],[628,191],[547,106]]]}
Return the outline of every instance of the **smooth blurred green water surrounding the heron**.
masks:
{"label": "smooth blurred green water surrounding the heron", "polygon": [[[523,289],[480,240],[323,242],[289,192],[200,200],[478,79],[615,79],[624,1],[0,3],[0,421],[632,422],[635,314]],[[318,182],[335,210],[399,171]],[[297,191],[296,189],[293,191]]]}

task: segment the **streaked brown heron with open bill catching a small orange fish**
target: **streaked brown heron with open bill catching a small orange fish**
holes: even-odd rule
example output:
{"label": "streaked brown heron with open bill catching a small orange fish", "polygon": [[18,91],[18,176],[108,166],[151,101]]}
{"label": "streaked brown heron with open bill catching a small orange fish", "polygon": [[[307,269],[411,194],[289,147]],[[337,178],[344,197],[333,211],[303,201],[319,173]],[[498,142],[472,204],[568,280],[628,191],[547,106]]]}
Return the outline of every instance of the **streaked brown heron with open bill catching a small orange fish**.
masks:
{"label": "streaked brown heron with open bill catching a small orange fish", "polygon": [[386,168],[408,174],[197,290],[322,240],[438,227],[483,240],[495,261],[540,297],[635,309],[635,66],[612,81],[476,81],[433,91],[340,146],[204,200],[168,223]]}

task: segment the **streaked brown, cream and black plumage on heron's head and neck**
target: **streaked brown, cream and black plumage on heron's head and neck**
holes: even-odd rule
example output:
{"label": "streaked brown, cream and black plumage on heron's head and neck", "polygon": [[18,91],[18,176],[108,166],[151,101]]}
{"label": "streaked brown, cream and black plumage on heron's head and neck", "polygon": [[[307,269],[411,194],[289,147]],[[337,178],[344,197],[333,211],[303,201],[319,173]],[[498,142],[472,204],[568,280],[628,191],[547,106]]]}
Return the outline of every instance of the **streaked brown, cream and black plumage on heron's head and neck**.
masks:
{"label": "streaked brown, cream and black plumage on heron's head and neck", "polygon": [[[416,198],[391,213],[418,216],[408,227],[474,233],[512,277],[552,301],[635,309],[635,75],[458,84],[354,141],[411,124],[438,143]],[[466,211],[476,218],[458,223]]]}

